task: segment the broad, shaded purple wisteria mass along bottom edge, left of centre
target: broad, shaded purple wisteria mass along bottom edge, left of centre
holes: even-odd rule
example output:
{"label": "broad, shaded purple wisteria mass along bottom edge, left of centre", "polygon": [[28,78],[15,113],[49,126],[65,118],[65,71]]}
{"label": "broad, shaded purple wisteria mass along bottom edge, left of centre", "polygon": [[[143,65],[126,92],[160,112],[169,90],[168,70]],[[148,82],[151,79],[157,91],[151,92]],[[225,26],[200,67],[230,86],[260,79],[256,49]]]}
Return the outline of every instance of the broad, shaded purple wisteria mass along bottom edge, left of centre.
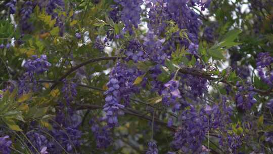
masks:
{"label": "broad, shaded purple wisteria mass along bottom edge, left of centre", "polygon": [[[78,130],[80,119],[75,113],[70,112],[66,116],[64,110],[57,109],[54,121],[51,123],[53,126],[52,130],[40,128],[43,131],[32,129],[26,133],[31,144],[29,142],[26,143],[32,152],[35,153],[38,150],[41,154],[59,154],[65,149],[67,152],[73,153],[75,148],[80,146],[82,132]],[[32,126],[35,126],[35,123]],[[48,134],[42,133],[45,131]]]}

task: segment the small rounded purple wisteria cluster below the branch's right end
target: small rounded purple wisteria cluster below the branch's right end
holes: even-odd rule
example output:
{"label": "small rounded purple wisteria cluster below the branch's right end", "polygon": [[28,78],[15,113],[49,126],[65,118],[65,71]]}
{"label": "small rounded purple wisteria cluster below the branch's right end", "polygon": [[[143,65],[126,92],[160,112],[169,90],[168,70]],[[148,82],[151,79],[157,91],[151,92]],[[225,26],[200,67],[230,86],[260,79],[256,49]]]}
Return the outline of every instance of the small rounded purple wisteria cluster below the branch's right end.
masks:
{"label": "small rounded purple wisteria cluster below the branch's right end", "polygon": [[256,93],[253,91],[253,87],[247,83],[245,86],[240,85],[239,82],[237,82],[236,87],[238,88],[235,96],[237,107],[242,110],[251,109],[252,105],[257,102],[254,98]]}

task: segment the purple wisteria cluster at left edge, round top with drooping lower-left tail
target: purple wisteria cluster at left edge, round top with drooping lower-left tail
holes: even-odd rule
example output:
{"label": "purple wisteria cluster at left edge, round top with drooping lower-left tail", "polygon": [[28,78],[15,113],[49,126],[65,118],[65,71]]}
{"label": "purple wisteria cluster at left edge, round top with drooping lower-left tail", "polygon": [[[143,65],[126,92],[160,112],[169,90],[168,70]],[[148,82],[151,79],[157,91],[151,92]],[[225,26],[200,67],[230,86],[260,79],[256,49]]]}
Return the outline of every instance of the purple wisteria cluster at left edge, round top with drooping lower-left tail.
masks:
{"label": "purple wisteria cluster at left edge, round top with drooping lower-left tail", "polygon": [[24,64],[26,72],[19,80],[18,94],[28,93],[30,91],[30,84],[33,84],[32,90],[36,90],[36,78],[35,75],[39,75],[49,70],[51,63],[47,61],[46,55],[41,55],[38,58],[37,55],[33,55],[31,59],[27,60]]}

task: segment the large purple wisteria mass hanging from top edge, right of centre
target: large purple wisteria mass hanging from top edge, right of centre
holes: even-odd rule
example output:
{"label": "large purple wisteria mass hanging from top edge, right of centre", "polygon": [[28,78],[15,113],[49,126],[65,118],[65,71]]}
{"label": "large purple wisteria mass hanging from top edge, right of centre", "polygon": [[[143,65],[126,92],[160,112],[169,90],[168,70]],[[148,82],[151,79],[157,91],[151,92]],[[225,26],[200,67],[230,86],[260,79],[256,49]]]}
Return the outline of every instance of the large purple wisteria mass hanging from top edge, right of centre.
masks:
{"label": "large purple wisteria mass hanging from top edge, right of centre", "polygon": [[[188,3],[189,1],[161,0],[151,4],[148,27],[152,28],[156,34],[160,34],[165,31],[165,27],[168,25],[167,21],[172,20],[180,29],[187,29],[189,39],[194,44],[198,44],[199,27],[202,22],[199,15],[189,7]],[[193,4],[195,5],[195,3]],[[189,46],[189,42],[182,42],[186,43],[186,47]]]}

